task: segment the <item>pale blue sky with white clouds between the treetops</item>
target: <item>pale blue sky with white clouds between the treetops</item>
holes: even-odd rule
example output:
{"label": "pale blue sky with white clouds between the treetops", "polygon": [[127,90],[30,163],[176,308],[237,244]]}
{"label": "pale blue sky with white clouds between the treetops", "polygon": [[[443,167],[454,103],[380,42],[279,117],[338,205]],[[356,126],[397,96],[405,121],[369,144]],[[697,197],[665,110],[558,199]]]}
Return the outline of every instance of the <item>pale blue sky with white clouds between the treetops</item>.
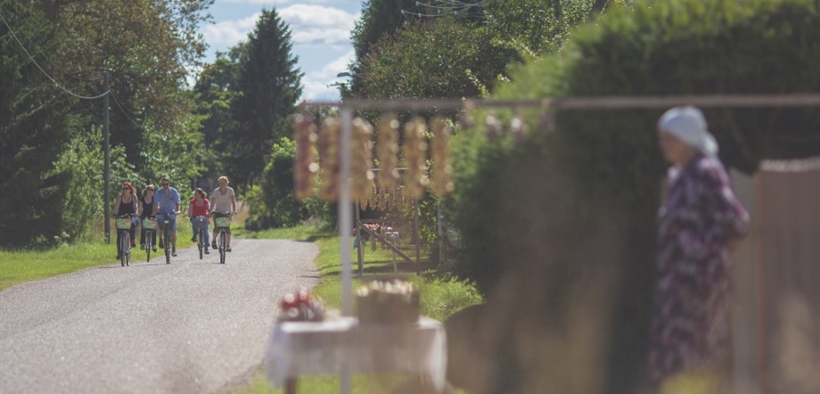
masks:
{"label": "pale blue sky with white clouds between the treetops", "polygon": [[339,90],[329,85],[348,80],[336,75],[355,58],[350,31],[361,15],[362,0],[216,0],[209,10],[213,23],[201,26],[209,45],[205,61],[213,62],[217,51],[227,52],[246,40],[266,8],[275,8],[291,28],[292,54],[305,74],[302,99],[339,100]]}

